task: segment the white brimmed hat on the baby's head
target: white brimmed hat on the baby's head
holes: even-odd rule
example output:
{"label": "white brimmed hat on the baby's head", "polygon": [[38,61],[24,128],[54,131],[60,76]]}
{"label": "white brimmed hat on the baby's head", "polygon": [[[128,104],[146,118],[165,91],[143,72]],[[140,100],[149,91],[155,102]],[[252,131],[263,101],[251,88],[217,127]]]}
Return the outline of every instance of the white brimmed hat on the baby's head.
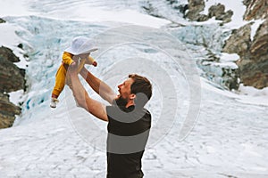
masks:
{"label": "white brimmed hat on the baby's head", "polygon": [[71,46],[68,47],[65,52],[71,53],[73,55],[78,55],[82,53],[95,52],[97,48],[90,43],[90,39],[85,36],[77,36],[73,38]]}

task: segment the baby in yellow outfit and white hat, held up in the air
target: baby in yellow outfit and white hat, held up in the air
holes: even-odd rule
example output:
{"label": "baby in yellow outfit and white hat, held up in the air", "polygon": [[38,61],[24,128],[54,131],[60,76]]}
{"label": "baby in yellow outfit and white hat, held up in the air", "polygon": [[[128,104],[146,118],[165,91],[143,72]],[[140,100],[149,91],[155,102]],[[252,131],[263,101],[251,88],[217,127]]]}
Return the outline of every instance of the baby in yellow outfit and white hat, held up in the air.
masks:
{"label": "baby in yellow outfit and white hat, held up in the air", "polygon": [[96,67],[96,61],[89,56],[91,52],[97,48],[90,44],[88,37],[78,36],[73,39],[71,46],[63,53],[62,65],[57,70],[55,76],[54,89],[51,94],[50,107],[56,108],[58,97],[63,92],[64,85],[70,85],[70,78],[66,77],[67,69],[70,65],[79,64],[78,72],[84,67],[84,64],[93,65]]}

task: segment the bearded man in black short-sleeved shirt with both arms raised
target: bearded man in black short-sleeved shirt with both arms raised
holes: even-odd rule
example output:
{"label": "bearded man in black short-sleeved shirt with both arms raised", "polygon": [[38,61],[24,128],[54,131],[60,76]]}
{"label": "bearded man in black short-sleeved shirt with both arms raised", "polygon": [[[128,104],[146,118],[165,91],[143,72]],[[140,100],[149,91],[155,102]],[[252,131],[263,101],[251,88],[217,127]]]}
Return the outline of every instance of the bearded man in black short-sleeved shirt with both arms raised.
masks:
{"label": "bearded man in black short-sleeved shirt with both arms raised", "polygon": [[78,105],[95,117],[108,122],[107,137],[107,178],[140,178],[141,158],[143,156],[149,130],[151,115],[144,109],[152,96],[152,85],[146,77],[132,74],[121,85],[119,94],[113,93],[111,87],[83,68],[80,75],[84,77],[105,101],[111,106],[93,100],[80,83],[76,70],[71,65],[71,91]]}

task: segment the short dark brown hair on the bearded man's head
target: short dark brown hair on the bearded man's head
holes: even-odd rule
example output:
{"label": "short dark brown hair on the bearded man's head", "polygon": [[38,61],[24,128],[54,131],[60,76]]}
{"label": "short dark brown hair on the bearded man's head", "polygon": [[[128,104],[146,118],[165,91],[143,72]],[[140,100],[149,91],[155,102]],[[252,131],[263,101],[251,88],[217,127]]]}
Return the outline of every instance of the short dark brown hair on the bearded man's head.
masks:
{"label": "short dark brown hair on the bearded man's head", "polygon": [[138,107],[144,107],[152,97],[152,84],[147,77],[141,77],[137,74],[130,74],[129,77],[133,79],[133,83],[130,86],[130,93],[136,94],[135,104]]}

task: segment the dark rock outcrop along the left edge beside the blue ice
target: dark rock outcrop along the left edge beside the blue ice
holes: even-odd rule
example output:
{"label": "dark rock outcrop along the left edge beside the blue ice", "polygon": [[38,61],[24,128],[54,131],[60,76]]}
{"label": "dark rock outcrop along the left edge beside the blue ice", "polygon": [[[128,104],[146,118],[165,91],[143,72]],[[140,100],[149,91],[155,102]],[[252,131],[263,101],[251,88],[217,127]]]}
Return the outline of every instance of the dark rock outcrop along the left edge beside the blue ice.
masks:
{"label": "dark rock outcrop along the left edge beside the blue ice", "polygon": [[19,69],[13,62],[20,61],[13,52],[0,47],[0,128],[13,125],[15,115],[21,114],[21,109],[9,101],[5,93],[25,89],[25,70]]}

